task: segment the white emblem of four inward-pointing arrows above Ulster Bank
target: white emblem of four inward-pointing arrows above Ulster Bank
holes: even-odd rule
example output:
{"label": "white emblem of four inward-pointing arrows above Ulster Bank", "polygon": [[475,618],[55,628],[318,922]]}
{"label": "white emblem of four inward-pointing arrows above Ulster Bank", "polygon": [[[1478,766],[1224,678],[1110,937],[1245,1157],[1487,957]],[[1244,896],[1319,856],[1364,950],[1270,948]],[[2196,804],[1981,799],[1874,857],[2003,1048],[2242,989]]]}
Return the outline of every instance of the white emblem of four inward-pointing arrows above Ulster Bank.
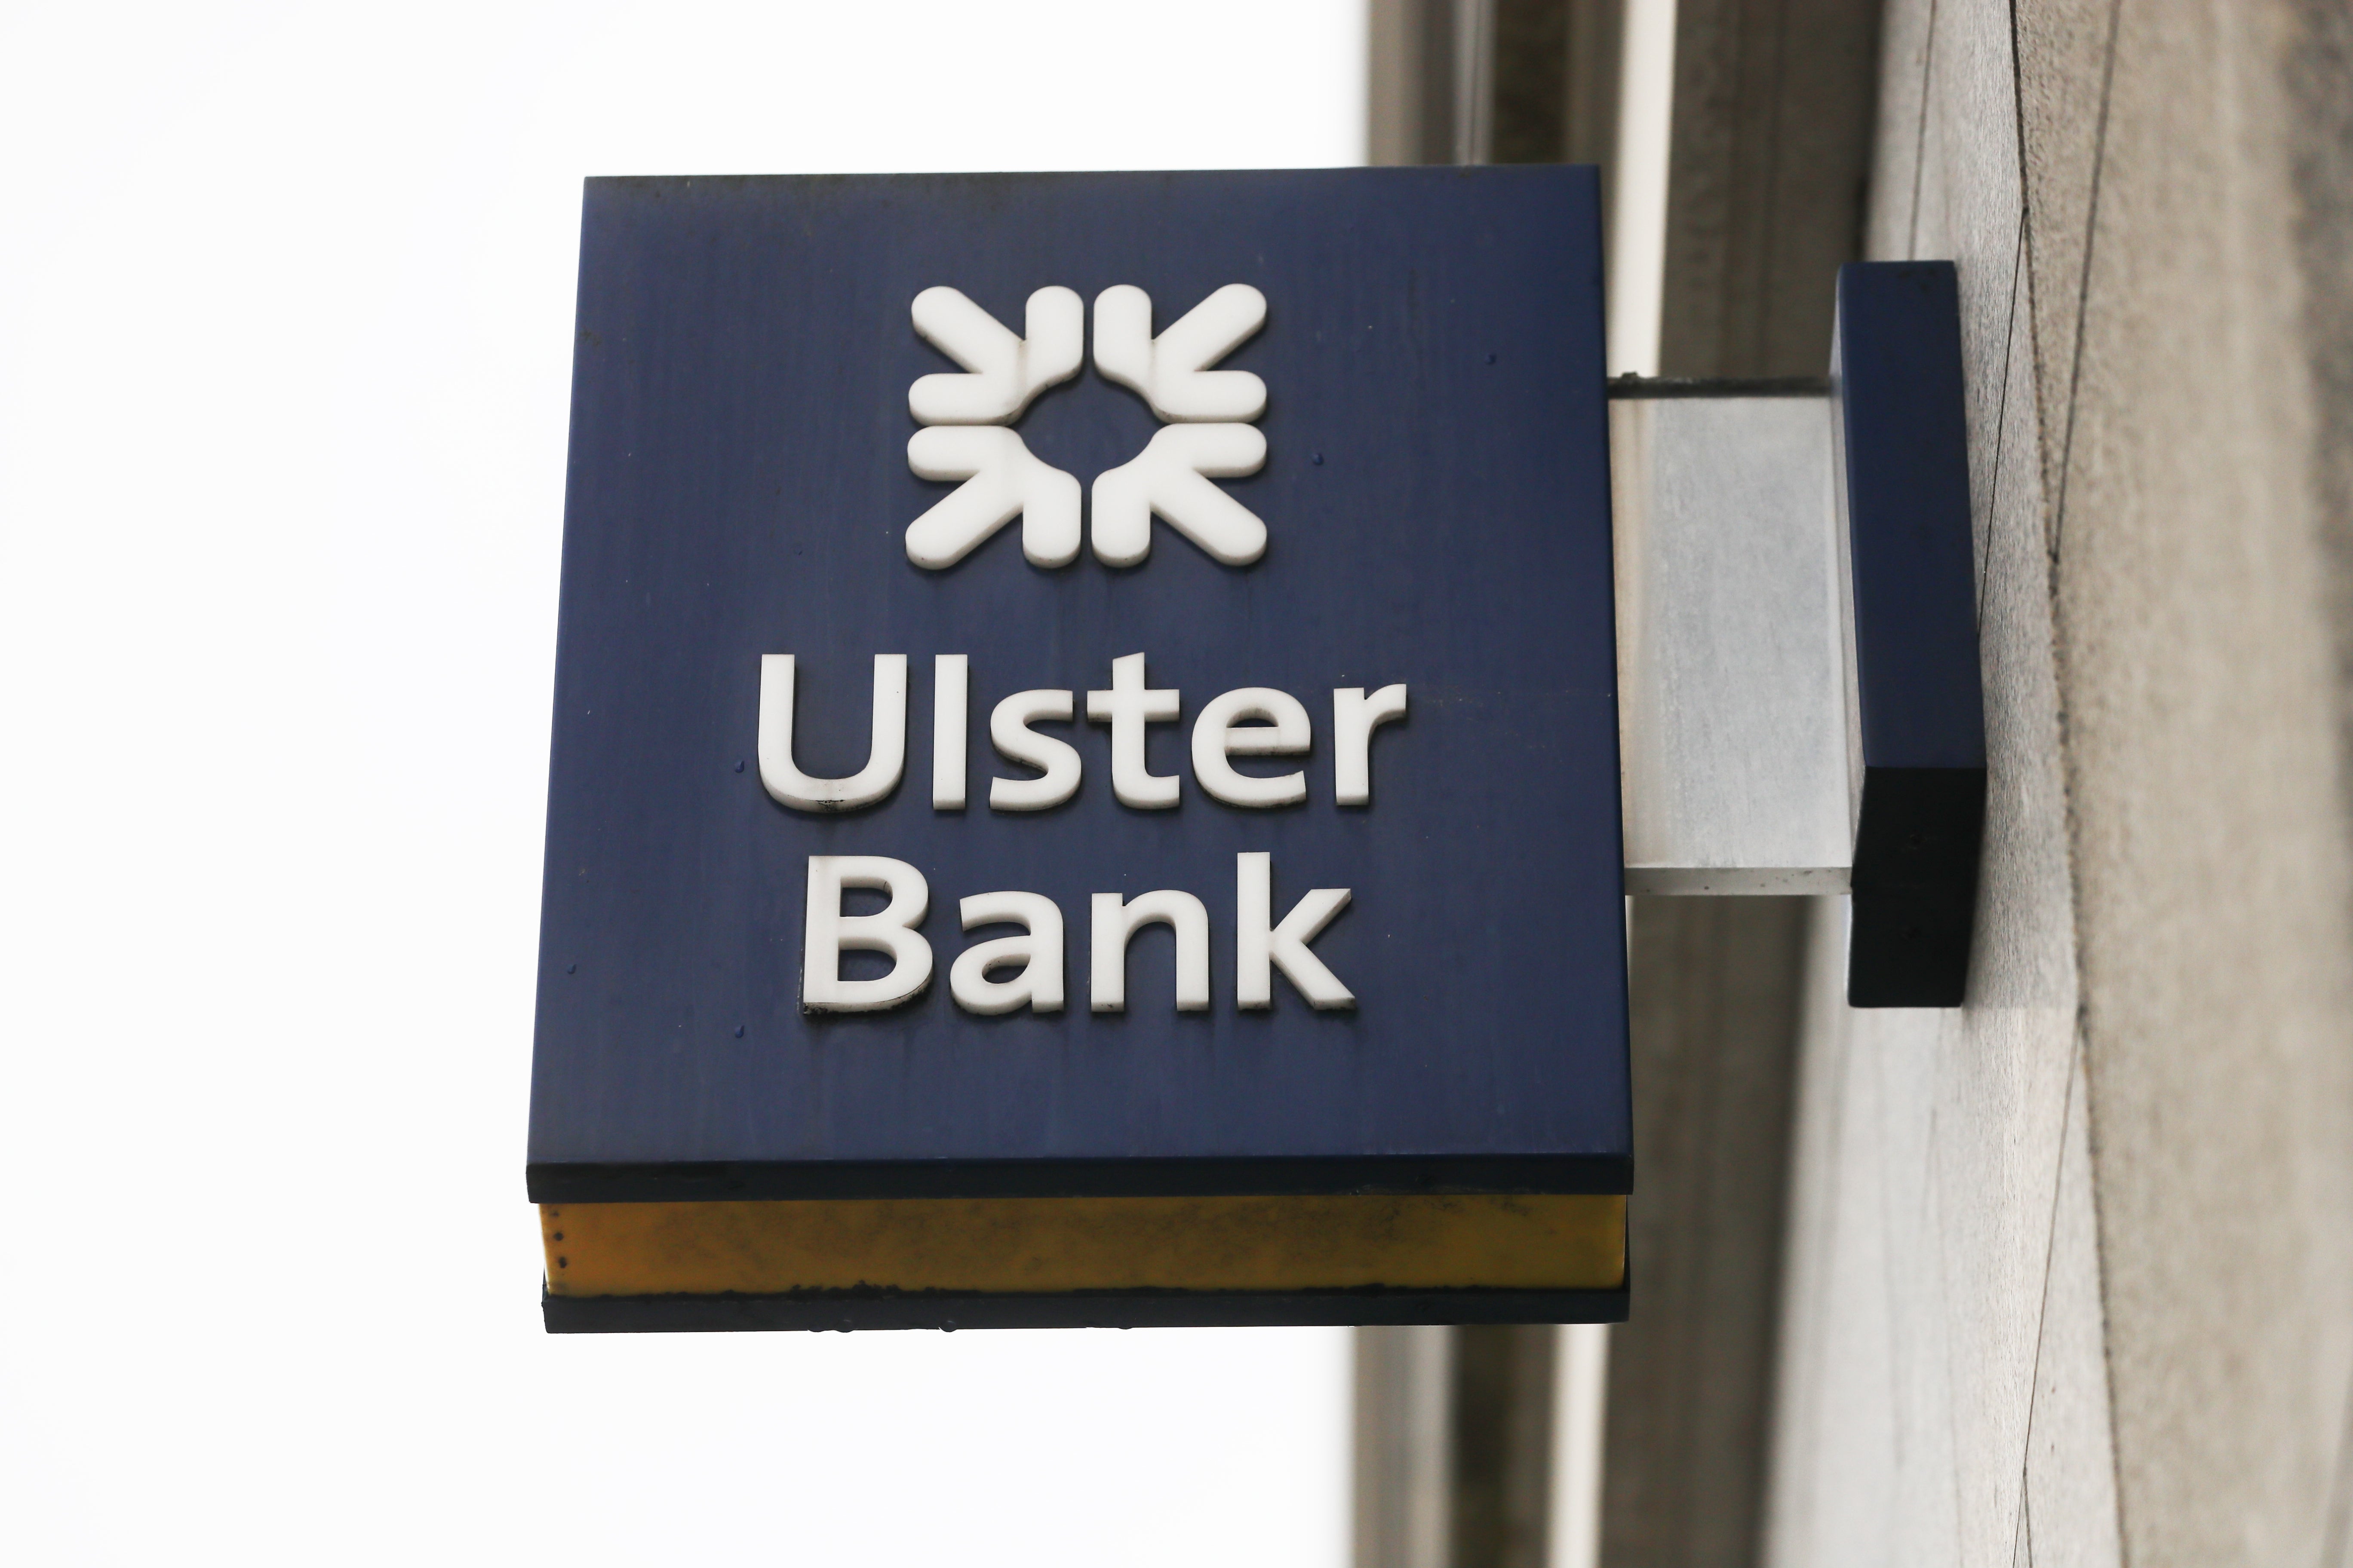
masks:
{"label": "white emblem of four inward-pointing arrows above Ulster Bank", "polygon": [[[958,289],[915,296],[915,331],[962,374],[920,376],[906,390],[925,425],[906,442],[906,465],[922,480],[962,480],[908,524],[906,557],[929,571],[965,559],[1014,517],[1033,567],[1078,559],[1078,477],[1031,454],[1014,430],[1031,400],[1068,381],[1085,362],[1087,308],[1071,289],[1028,296],[1024,336]],[[1266,296],[1231,282],[1153,336],[1153,299],[1132,284],[1094,299],[1094,369],[1129,388],[1160,416],[1160,430],[1127,463],[1094,477],[1089,510],[1094,559],[1134,567],[1153,550],[1153,517],[1228,567],[1266,555],[1266,524],[1212,480],[1266,465],[1266,383],[1249,371],[1212,369],[1266,322]]]}

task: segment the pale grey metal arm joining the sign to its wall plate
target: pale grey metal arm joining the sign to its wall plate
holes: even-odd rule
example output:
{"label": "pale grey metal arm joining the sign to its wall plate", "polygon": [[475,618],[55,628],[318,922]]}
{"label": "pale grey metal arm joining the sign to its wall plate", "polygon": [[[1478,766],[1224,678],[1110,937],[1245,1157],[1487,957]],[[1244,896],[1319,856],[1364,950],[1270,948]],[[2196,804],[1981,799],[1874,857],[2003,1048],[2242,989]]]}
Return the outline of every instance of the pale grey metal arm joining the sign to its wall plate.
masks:
{"label": "pale grey metal arm joining the sign to its wall plate", "polygon": [[1626,891],[1842,893],[1854,809],[1828,395],[1819,381],[1612,393]]}

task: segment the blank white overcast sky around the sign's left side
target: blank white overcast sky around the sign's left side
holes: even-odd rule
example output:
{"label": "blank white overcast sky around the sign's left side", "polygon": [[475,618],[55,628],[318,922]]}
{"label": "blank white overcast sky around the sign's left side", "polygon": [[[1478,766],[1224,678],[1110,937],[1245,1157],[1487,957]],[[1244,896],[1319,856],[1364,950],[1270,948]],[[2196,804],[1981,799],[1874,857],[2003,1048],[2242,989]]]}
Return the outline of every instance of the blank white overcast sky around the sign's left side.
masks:
{"label": "blank white overcast sky around the sign's left side", "polygon": [[1360,0],[0,12],[0,1556],[1346,1554],[1341,1331],[562,1338],[584,174],[1332,165]]}

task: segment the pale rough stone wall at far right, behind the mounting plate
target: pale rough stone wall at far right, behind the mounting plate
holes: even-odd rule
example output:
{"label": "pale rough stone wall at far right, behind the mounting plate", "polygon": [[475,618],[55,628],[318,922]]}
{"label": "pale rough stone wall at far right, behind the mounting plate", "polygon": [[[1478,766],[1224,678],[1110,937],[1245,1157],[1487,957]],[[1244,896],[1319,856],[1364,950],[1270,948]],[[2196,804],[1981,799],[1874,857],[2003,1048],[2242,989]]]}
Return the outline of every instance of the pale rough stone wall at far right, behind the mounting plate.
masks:
{"label": "pale rough stone wall at far right, behind the mounting plate", "polygon": [[1774,1563],[2346,1561],[2353,167],[2292,0],[1892,0],[1868,254],[1960,263],[1969,1006],[1817,919]]}

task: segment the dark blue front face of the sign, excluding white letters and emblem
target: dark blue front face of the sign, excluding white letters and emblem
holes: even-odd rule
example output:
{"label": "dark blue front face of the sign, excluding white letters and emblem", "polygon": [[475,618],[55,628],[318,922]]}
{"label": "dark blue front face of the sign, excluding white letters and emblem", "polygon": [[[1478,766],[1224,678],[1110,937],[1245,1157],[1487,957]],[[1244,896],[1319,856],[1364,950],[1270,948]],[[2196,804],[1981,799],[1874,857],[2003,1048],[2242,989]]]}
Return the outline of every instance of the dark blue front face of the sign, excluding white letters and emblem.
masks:
{"label": "dark blue front face of the sign, excluding white letters and emblem", "polygon": [[[1268,383],[1271,456],[1231,491],[1271,531],[1219,567],[1040,571],[1019,524],[915,569],[944,484],[906,468],[908,383],[953,369],[908,301],[953,284],[1019,329],[1031,289],[1151,292],[1167,324],[1268,296],[1226,367]],[[1080,477],[1155,430],[1092,364],[1016,425]],[[1108,729],[1075,802],[993,813],[998,698],[1111,684],[1144,651],[1176,811],[1113,802]],[[798,755],[866,757],[873,654],[911,656],[908,769],[805,816],[760,788],[760,656],[800,658]],[[929,804],[932,656],[972,656],[972,806]],[[1631,1178],[1602,308],[1591,169],[612,179],[586,195],[548,788],[529,1178],[539,1201],[915,1192],[1621,1192]],[[1332,689],[1412,689],[1374,804],[1332,802]],[[1308,802],[1238,811],[1191,776],[1191,717],[1280,686],[1315,717]],[[1080,696],[1080,705],[1085,698]],[[1242,764],[1287,771],[1289,759]],[[1353,1013],[1275,980],[1233,1006],[1238,851],[1280,917],[1353,907],[1315,952]],[[932,886],[932,990],[798,1009],[805,858],[882,853]],[[1129,1011],[1087,1011],[1087,898],[1198,893],[1214,1006],[1172,943]],[[955,900],[1052,896],[1071,1006],[946,994]],[[852,959],[859,964],[864,959]],[[875,957],[875,973],[882,959]],[[849,969],[847,973],[861,973]]]}

